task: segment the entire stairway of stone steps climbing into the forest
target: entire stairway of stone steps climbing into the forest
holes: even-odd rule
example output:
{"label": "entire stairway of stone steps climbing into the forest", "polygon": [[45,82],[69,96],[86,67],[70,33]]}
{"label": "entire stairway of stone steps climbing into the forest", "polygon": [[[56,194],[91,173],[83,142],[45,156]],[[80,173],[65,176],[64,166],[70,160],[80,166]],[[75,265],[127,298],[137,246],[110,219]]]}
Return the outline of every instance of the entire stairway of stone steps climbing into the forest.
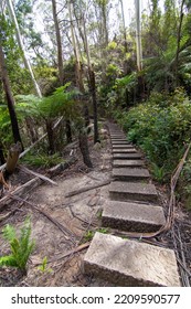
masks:
{"label": "entire stairway of stone steps climbing into the forest", "polygon": [[[109,131],[113,181],[102,225],[126,232],[157,232],[166,219],[142,154],[116,125],[110,125]],[[172,249],[98,232],[84,257],[84,271],[116,286],[181,286]]]}

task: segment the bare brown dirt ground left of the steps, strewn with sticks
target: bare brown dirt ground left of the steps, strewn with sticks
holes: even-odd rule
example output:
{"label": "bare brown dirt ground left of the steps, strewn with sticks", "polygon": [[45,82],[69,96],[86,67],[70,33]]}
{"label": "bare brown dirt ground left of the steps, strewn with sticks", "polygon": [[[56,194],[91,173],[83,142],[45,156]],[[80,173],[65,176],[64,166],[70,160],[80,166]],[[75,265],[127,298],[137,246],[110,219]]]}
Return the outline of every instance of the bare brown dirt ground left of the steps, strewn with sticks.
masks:
{"label": "bare brown dirt ground left of the steps, strewn with sticks", "polygon": [[[108,196],[108,185],[104,185],[66,198],[71,191],[99,184],[110,179],[112,153],[108,137],[103,139],[102,147],[92,146],[91,156],[94,163],[92,171],[87,171],[78,154],[78,161],[74,166],[54,178],[57,187],[43,183],[26,196],[28,202],[50,214],[59,226],[28,203],[19,202],[14,203],[14,207],[17,206],[14,214],[0,223],[0,230],[7,223],[13,224],[19,230],[24,217],[30,215],[32,238],[35,239],[35,251],[30,258],[28,276],[20,278],[17,270],[0,269],[1,286],[106,285],[83,275],[82,259],[85,251],[64,257],[78,245],[87,243],[94,231],[99,228],[100,211]],[[0,246],[0,251],[4,254],[8,247],[1,237]],[[45,256],[49,269],[41,273],[38,264],[42,264]]]}

